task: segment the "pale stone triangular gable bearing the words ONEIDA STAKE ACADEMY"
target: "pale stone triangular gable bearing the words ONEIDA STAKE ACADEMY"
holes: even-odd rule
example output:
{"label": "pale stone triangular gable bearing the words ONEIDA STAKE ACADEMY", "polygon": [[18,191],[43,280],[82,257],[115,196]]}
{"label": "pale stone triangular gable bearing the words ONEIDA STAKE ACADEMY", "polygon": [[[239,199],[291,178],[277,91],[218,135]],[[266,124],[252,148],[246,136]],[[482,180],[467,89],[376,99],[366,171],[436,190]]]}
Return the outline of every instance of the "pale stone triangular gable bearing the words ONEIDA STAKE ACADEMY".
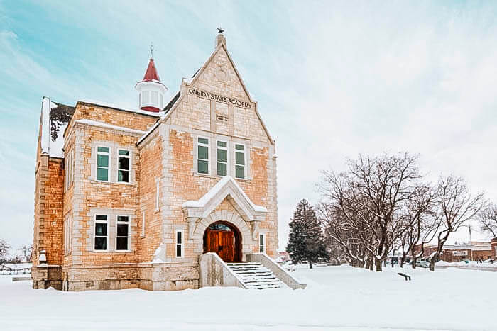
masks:
{"label": "pale stone triangular gable bearing the words ONEIDA STAKE ACADEMY", "polygon": [[[214,105],[212,101],[215,101]],[[234,108],[230,114],[228,106]],[[229,118],[234,123],[234,130],[229,131],[227,125],[217,125],[217,116]],[[224,41],[218,42],[214,52],[191,79],[183,79],[180,98],[170,108],[165,120],[170,124],[274,143]],[[213,129],[212,123],[222,128]]]}

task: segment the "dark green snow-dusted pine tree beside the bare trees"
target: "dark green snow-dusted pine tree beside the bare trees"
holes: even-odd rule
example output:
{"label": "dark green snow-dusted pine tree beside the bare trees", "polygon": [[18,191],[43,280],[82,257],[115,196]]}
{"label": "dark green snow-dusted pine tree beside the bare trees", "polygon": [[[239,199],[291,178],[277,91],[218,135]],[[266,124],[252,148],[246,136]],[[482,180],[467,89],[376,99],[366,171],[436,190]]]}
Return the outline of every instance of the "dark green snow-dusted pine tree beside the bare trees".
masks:
{"label": "dark green snow-dusted pine tree beside the bare trees", "polygon": [[312,263],[328,259],[320,222],[314,208],[305,199],[295,207],[286,251],[293,264],[308,262],[311,269]]}

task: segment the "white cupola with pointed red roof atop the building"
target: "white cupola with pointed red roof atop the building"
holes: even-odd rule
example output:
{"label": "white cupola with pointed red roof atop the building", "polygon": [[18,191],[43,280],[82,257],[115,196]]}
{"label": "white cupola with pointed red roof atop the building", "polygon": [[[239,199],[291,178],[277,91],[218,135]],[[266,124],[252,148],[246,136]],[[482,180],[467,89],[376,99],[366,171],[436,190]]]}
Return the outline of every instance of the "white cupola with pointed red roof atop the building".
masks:
{"label": "white cupola with pointed red roof atop the building", "polygon": [[138,91],[138,108],[144,111],[162,111],[165,107],[165,93],[168,88],[160,82],[157,69],[153,62],[153,57],[148,62],[147,71],[143,79],[136,83]]}

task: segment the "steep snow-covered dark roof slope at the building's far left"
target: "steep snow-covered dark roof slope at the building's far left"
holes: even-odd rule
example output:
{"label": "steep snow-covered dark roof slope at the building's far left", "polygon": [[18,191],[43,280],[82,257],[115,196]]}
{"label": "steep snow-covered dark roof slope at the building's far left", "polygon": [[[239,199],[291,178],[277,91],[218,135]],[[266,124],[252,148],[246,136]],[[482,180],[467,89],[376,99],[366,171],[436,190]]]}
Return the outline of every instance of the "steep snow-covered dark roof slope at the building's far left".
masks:
{"label": "steep snow-covered dark roof slope at the building's far left", "polygon": [[43,97],[41,105],[41,154],[64,157],[64,131],[75,107],[50,101]]}

